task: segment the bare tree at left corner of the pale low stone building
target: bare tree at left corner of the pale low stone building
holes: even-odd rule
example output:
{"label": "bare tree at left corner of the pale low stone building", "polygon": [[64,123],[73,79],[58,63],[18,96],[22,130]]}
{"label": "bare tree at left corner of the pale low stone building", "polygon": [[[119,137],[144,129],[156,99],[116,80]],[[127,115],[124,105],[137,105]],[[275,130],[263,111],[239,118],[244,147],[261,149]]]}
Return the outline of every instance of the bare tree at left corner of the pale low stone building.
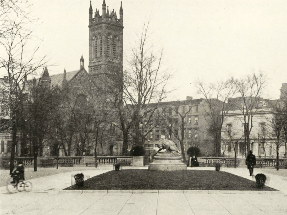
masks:
{"label": "bare tree at left corner of the pale low stone building", "polygon": [[[228,112],[228,99],[235,93],[230,80],[217,81],[205,86],[203,81],[196,81],[198,93],[204,96],[205,119],[210,122],[210,132],[214,136],[214,154],[220,156],[221,129]],[[221,101],[221,102],[220,102]]]}

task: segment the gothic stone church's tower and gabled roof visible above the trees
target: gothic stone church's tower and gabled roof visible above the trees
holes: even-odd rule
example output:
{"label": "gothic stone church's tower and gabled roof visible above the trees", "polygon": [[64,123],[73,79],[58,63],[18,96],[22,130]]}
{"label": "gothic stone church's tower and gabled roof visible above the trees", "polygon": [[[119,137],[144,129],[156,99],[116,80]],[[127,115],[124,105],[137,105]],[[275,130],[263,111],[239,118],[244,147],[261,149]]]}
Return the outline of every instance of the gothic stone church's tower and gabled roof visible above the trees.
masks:
{"label": "gothic stone church's tower and gabled roof visible above the trees", "polygon": [[[50,83],[50,86],[60,88],[70,87],[78,89],[83,94],[85,87],[91,85],[94,89],[103,89],[111,75],[112,68],[123,68],[123,7],[121,3],[119,19],[116,12],[109,12],[105,0],[102,4],[102,15],[99,10],[89,8],[89,65],[88,72],[84,67],[84,58],[80,58],[80,67],[74,71],[64,72],[57,75],[49,75],[45,68],[41,81]],[[119,77],[119,76],[118,76]],[[121,146],[115,146],[114,154],[121,152]]]}

